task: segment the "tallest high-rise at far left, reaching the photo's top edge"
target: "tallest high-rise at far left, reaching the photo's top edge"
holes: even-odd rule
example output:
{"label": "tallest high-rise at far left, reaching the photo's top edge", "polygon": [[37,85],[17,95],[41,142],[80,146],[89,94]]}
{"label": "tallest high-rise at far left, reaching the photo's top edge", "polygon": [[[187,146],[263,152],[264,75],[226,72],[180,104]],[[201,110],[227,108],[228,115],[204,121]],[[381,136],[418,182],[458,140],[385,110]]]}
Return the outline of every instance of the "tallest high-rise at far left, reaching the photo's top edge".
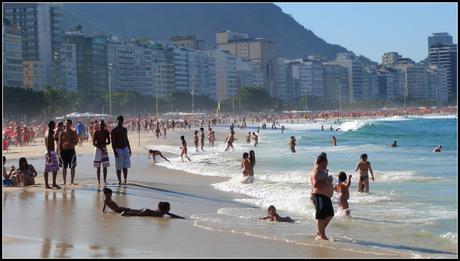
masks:
{"label": "tallest high-rise at far left, reaching the photo's top edge", "polygon": [[[3,5],[3,17],[21,27],[24,79],[27,78],[28,88],[57,86],[61,75],[59,54],[63,44],[62,6],[54,3],[7,3]],[[34,70],[40,75],[25,75],[30,72],[31,65],[40,68]]]}

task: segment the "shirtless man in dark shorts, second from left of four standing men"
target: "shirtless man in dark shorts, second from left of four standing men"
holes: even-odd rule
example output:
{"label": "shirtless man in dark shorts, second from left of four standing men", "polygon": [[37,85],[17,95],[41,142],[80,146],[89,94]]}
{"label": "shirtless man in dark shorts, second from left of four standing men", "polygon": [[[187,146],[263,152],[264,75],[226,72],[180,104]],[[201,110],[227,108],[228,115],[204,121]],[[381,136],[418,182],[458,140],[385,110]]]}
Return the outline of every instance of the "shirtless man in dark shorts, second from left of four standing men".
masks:
{"label": "shirtless man in dark shorts, second from left of four standing men", "polygon": [[67,119],[65,130],[59,133],[59,151],[63,163],[62,178],[66,184],[67,168],[70,168],[70,184],[77,185],[75,180],[75,167],[77,166],[77,154],[75,146],[78,145],[77,132],[72,129],[72,120]]}

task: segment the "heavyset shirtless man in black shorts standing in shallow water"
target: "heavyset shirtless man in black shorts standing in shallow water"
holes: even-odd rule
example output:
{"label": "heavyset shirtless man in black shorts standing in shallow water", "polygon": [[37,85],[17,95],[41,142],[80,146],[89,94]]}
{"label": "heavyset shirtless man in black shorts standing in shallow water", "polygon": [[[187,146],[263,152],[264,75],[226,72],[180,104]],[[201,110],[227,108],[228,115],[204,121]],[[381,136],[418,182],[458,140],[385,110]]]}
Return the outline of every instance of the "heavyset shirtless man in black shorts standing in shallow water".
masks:
{"label": "heavyset shirtless man in black shorts standing in shallow water", "polygon": [[321,153],[316,159],[315,166],[311,171],[311,200],[316,209],[316,240],[328,240],[326,227],[334,216],[331,197],[334,193],[332,176],[328,176],[327,155]]}

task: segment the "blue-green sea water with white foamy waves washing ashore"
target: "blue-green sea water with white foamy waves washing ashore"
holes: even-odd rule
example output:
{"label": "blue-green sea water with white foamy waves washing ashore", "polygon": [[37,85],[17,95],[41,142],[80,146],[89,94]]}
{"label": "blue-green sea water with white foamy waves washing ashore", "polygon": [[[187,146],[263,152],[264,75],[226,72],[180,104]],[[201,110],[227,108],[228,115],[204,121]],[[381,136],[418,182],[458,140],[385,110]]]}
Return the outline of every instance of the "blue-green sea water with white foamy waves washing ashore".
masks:
{"label": "blue-green sea water with white foamy waves washing ashore", "polygon": [[[171,164],[159,165],[193,174],[230,177],[213,186],[241,193],[244,196],[236,201],[260,207],[222,208],[218,213],[193,216],[197,227],[312,244],[308,239],[314,238],[316,228],[314,206],[309,200],[309,175],[317,155],[326,152],[334,183],[340,171],[353,175],[351,218],[338,211],[334,194],[336,214],[327,228],[327,235],[334,242],[326,247],[365,246],[413,257],[458,255],[457,116],[281,124],[286,128],[284,133],[280,128],[261,129],[257,147],[246,144],[245,138],[256,126],[235,128],[238,140],[235,150],[228,152],[224,152],[223,141],[204,152],[195,152],[193,144],[189,144],[192,162],[180,162],[177,147],[155,146],[176,154],[176,158],[171,157]],[[219,128],[227,130],[228,126]],[[290,136],[297,139],[296,153],[289,149]],[[336,137],[337,146],[332,146],[332,136]],[[399,146],[390,147],[395,140]],[[442,145],[441,153],[432,152],[437,145]],[[251,149],[256,155],[255,181],[242,184],[242,154]],[[356,186],[359,174],[355,169],[362,153],[368,155],[375,176],[374,182],[369,181],[368,194],[358,193]],[[290,215],[297,222],[259,221],[269,205],[275,205],[280,215]],[[353,245],[358,248],[348,247]]]}

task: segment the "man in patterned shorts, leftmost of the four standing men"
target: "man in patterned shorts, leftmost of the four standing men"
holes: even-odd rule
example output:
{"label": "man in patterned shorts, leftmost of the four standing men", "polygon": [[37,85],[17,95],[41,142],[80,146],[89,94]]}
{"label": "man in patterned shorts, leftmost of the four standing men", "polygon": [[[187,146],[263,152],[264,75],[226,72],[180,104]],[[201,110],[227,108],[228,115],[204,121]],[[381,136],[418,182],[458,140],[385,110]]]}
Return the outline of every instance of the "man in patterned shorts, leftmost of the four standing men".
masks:
{"label": "man in patterned shorts, leftmost of the four standing men", "polygon": [[45,137],[45,146],[46,146],[46,155],[45,155],[45,187],[47,189],[51,189],[48,183],[48,172],[53,173],[53,187],[60,189],[56,183],[56,176],[59,170],[59,162],[57,159],[57,154],[55,151],[55,143],[54,143],[54,129],[56,128],[56,123],[54,121],[50,121],[48,123],[48,132],[46,133]]}

